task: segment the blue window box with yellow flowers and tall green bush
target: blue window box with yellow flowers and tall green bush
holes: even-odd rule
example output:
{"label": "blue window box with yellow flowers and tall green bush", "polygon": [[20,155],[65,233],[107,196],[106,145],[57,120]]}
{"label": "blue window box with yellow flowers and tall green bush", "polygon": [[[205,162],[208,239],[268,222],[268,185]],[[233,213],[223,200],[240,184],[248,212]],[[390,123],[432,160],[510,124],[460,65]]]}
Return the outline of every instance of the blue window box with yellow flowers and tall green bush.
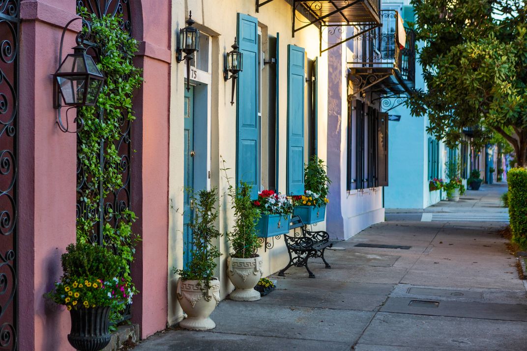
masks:
{"label": "blue window box with yellow flowers and tall green bush", "polygon": [[329,180],[324,161],[316,155],[311,156],[305,166],[304,195],[293,196],[294,214],[300,216],[304,224],[322,222],[326,215]]}

